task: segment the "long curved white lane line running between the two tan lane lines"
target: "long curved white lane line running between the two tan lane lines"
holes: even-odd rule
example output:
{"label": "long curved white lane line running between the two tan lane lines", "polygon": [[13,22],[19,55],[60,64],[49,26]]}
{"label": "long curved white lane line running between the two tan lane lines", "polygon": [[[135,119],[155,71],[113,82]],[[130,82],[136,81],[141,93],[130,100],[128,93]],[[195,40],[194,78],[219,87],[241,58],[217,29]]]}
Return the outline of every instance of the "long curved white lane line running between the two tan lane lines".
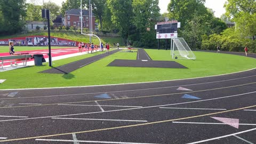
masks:
{"label": "long curved white lane line running between the two tan lane lines", "polygon": [[170,105],[159,105],[159,106],[150,106],[150,107],[142,107],[142,108],[117,109],[117,110],[108,110],[108,111],[104,111],[104,112],[97,111],[97,112],[91,112],[91,113],[80,113],[80,114],[70,114],[70,115],[45,116],[45,117],[33,117],[33,118],[22,118],[22,119],[7,119],[7,120],[2,120],[0,122],[20,121],[20,120],[27,120],[27,119],[39,119],[39,118],[51,118],[51,117],[62,117],[62,116],[76,116],[76,115],[86,115],[86,114],[97,114],[97,113],[106,113],[106,112],[113,112],[113,111],[144,109],[144,108],[154,108],[154,107],[165,107],[165,106],[171,106],[171,105],[181,105],[181,104],[185,104],[185,103],[194,103],[194,102],[201,102],[201,101],[210,101],[210,100],[216,100],[216,99],[237,97],[237,96],[240,96],[240,95],[246,95],[246,94],[252,94],[252,93],[256,93],[256,91],[255,92],[249,92],[249,93],[230,95],[230,96],[227,96],[227,97],[214,98],[214,99],[206,99],[206,100],[198,100],[198,101],[190,101],[190,102],[181,102],[181,103],[173,103],[173,104],[170,104]]}

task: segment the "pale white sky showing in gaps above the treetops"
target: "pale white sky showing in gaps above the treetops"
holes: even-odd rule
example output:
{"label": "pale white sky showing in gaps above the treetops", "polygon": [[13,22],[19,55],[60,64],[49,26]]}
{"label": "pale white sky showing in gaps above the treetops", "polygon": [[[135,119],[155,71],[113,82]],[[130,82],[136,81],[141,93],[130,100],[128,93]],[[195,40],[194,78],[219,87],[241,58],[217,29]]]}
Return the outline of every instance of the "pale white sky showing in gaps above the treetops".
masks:
{"label": "pale white sky showing in gaps above the treetops", "polygon": [[[28,2],[30,2],[30,0],[27,0]],[[65,0],[50,0],[51,2],[54,2],[58,5],[61,5],[61,3]],[[225,13],[225,9],[223,8],[224,3],[227,0],[206,0],[205,6],[209,7],[210,9],[212,9],[213,11],[215,11],[215,17],[219,17],[221,16],[221,14]],[[38,2],[43,3],[43,0],[38,0]],[[49,2],[49,0],[44,0],[44,2]],[[170,3],[170,0],[159,0],[159,7],[161,9],[161,13],[167,12],[167,6]]]}

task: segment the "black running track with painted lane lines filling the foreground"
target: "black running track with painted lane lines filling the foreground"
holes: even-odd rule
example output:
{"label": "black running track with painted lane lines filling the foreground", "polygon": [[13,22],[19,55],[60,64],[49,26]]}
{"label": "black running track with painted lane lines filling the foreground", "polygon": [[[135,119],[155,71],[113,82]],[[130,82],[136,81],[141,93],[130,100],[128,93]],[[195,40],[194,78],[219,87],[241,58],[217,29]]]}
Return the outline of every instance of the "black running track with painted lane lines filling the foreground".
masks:
{"label": "black running track with painted lane lines filling the foreground", "polygon": [[[110,99],[95,97],[100,94]],[[77,144],[75,137],[79,143],[256,143],[255,95],[256,69],[179,81],[0,91],[0,143]],[[212,117],[236,118],[240,125]]]}

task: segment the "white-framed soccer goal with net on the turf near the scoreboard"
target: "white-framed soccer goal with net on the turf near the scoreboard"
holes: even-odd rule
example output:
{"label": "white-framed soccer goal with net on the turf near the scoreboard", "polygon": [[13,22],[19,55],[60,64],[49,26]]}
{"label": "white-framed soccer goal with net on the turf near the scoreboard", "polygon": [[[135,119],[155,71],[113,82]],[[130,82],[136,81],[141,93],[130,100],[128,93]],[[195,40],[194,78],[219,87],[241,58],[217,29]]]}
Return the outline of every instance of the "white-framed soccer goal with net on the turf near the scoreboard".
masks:
{"label": "white-framed soccer goal with net on the turf near the scoreboard", "polygon": [[172,42],[172,59],[196,59],[195,54],[191,51],[184,38],[173,38]]}

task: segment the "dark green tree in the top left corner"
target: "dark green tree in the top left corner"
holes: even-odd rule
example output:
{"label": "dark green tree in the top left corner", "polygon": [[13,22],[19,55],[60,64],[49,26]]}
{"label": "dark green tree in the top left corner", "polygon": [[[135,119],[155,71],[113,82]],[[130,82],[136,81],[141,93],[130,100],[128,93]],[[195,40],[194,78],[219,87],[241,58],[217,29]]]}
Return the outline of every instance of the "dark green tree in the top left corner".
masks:
{"label": "dark green tree in the top left corner", "polygon": [[23,29],[25,22],[23,22],[26,16],[25,0],[1,0],[0,10],[2,11],[3,22],[2,31],[0,34],[15,34]]}

